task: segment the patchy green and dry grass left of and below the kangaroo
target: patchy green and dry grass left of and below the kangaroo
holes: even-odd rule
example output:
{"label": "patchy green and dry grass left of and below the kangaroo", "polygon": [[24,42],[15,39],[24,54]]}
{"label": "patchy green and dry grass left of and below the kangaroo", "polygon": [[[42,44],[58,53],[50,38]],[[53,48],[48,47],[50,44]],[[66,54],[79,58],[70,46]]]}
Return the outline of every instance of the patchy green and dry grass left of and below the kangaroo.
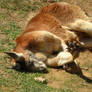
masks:
{"label": "patchy green and dry grass left of and below the kangaroo", "polygon": [[[11,51],[14,48],[15,39],[23,32],[22,24],[26,20],[27,14],[30,11],[38,12],[41,7],[47,5],[43,2],[44,0],[30,1],[0,1],[0,92],[78,92],[78,88],[91,89],[91,84],[79,85],[78,82],[81,83],[83,80],[76,75],[71,75],[70,79],[63,83],[66,86],[65,88],[55,89],[34,80],[34,77],[43,76],[41,73],[26,73],[12,69],[10,57],[3,52]],[[20,23],[22,26],[20,26]],[[92,68],[91,65],[89,67]],[[53,80],[58,79],[54,77]]]}

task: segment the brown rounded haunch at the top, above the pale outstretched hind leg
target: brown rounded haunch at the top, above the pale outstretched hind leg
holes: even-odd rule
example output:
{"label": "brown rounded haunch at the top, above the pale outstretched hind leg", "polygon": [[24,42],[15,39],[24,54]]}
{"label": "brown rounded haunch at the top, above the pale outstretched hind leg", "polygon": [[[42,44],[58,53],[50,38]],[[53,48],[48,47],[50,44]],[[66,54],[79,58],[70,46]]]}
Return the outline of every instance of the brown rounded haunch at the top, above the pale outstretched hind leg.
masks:
{"label": "brown rounded haunch at the top, above the pale outstretched hind leg", "polygon": [[48,13],[55,16],[64,26],[69,26],[70,23],[73,23],[77,19],[89,21],[89,18],[79,6],[65,2],[53,3],[43,7],[41,13]]}

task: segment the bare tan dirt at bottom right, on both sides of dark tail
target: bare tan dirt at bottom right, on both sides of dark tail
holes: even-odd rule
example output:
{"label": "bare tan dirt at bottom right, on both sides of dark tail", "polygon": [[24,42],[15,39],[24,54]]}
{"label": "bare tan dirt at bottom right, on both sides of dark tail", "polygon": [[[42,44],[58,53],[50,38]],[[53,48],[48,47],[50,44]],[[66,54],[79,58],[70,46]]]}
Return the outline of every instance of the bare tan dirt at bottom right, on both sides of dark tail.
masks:
{"label": "bare tan dirt at bottom right, on both sides of dark tail", "polygon": [[90,66],[92,65],[91,57],[92,53],[88,50],[80,53],[77,61],[80,62],[81,67],[88,67],[88,70],[82,70],[83,76],[81,77],[79,77],[79,74],[71,74],[62,69],[50,69],[49,73],[45,75],[45,78],[48,79],[48,86],[53,88],[68,88],[71,85],[70,88],[79,88],[80,86],[87,85],[87,81],[92,81],[92,74],[90,72],[92,71],[92,67]]}

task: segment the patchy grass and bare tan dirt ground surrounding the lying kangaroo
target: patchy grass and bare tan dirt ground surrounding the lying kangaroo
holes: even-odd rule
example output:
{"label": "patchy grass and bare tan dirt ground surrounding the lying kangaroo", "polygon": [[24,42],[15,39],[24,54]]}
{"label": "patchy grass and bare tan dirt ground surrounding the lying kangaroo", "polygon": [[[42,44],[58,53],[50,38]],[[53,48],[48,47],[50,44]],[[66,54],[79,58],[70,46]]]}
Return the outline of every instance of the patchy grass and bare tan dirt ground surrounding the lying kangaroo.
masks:
{"label": "patchy grass and bare tan dirt ground surrounding the lying kangaroo", "polygon": [[[47,5],[45,0],[1,0],[0,1],[0,92],[91,92],[92,90],[92,52],[81,52],[77,62],[84,76],[71,74],[63,69],[51,69],[49,73],[28,73],[12,69],[10,57],[5,51],[12,51],[15,39],[24,30],[30,18],[40,8]],[[56,0],[79,5],[89,17],[92,17],[91,0]],[[48,83],[40,83],[34,77],[43,76]]]}

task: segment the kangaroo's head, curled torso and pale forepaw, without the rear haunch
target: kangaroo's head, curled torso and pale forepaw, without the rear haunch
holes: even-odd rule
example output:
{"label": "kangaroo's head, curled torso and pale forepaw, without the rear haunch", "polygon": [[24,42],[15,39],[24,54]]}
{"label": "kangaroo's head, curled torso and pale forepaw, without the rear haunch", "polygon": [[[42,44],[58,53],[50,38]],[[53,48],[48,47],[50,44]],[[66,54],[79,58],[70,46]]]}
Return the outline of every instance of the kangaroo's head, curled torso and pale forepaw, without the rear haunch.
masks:
{"label": "kangaroo's head, curled torso and pale forepaw, without the rear haunch", "polygon": [[[63,29],[54,16],[39,13],[28,25],[16,39],[14,52],[7,52],[13,57],[15,64],[20,64],[20,67],[26,67],[31,71],[44,71],[47,66],[62,66],[73,61],[66,43],[76,40],[76,35]],[[46,59],[44,61],[37,59],[35,56],[37,52],[43,53]],[[53,61],[53,58],[47,59],[54,52],[59,53],[56,55],[58,61]]]}

